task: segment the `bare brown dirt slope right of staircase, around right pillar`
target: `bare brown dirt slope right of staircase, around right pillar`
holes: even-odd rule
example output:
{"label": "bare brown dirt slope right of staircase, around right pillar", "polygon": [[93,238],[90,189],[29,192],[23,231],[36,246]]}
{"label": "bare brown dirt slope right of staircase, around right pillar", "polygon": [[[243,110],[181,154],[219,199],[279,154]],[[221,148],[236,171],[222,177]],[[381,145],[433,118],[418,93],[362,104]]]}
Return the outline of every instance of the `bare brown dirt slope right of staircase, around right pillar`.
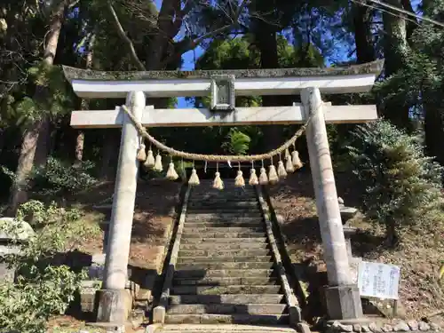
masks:
{"label": "bare brown dirt slope right of staircase, around right pillar", "polygon": [[[363,188],[351,174],[337,173],[337,193],[346,206],[360,208]],[[293,263],[311,261],[325,271],[321,236],[317,223],[311,174],[301,170],[285,182],[270,188],[276,214],[284,218],[282,233]],[[444,323],[444,285],[438,271],[444,253],[444,221],[401,234],[402,243],[386,250],[384,232],[362,214],[349,222],[365,233],[352,238],[353,256],[401,267],[400,302],[407,318],[428,318]],[[402,306],[403,305],[403,306]],[[442,326],[441,326],[442,327]]]}

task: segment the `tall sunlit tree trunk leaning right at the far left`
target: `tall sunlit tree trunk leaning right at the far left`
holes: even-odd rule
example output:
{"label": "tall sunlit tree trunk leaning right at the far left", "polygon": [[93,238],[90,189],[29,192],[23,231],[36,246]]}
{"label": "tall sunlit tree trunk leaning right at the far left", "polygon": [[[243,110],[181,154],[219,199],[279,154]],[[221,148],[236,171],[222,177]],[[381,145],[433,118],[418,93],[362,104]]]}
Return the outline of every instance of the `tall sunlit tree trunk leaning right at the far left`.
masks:
{"label": "tall sunlit tree trunk leaning right at the far left", "polygon": [[[68,0],[60,1],[53,11],[50,21],[50,28],[46,36],[47,44],[44,49],[43,62],[47,67],[51,67],[57,52],[59,43],[60,29],[64,20],[65,8]],[[36,86],[34,100],[37,105],[44,104],[48,98],[48,91],[43,86]],[[26,183],[28,175],[34,165],[43,165],[48,156],[48,139],[50,138],[51,118],[49,115],[43,115],[42,119],[31,123],[25,130],[23,141],[20,148],[19,165],[16,170],[16,178],[12,186],[10,211],[15,215],[20,203],[27,201]],[[42,139],[39,140],[39,137]],[[37,143],[39,145],[38,154]]]}

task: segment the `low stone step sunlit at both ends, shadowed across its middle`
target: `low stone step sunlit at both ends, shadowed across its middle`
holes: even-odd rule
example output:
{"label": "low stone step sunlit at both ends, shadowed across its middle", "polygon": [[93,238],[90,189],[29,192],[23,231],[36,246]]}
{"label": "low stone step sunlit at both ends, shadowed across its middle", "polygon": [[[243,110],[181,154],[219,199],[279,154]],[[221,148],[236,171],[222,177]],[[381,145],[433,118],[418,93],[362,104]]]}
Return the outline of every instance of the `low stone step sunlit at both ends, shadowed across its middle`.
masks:
{"label": "low stone step sunlit at both ends, shadowed across its middle", "polygon": [[171,305],[168,314],[283,314],[287,311],[284,304],[179,304]]}

